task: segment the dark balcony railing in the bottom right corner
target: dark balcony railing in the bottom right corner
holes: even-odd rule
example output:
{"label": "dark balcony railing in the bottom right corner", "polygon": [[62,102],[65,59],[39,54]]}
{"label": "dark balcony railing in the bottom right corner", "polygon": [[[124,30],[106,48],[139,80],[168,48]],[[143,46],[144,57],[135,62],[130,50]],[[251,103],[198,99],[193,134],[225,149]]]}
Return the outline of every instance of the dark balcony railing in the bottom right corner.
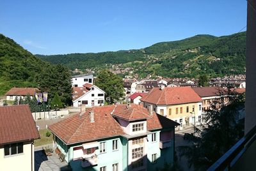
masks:
{"label": "dark balcony railing in the bottom right corner", "polygon": [[256,170],[256,126],[210,168],[211,170]]}

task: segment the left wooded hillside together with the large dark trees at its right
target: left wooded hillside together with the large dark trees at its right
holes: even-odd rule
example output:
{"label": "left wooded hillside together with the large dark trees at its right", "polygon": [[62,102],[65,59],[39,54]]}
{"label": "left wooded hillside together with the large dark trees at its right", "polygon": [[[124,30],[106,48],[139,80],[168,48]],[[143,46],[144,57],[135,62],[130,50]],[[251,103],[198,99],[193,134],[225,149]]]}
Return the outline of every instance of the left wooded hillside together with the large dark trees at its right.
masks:
{"label": "left wooded hillside together with the large dark trees at its right", "polygon": [[12,87],[38,87],[49,93],[50,100],[56,93],[63,104],[68,105],[72,100],[71,76],[66,66],[38,59],[3,34],[0,34],[0,73],[0,95]]}

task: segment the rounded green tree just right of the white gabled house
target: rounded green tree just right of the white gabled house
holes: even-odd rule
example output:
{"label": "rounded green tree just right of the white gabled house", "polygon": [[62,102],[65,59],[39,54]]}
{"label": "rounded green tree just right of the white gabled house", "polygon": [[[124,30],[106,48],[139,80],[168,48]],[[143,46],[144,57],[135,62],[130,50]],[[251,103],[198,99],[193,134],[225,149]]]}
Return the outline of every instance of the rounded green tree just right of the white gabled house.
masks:
{"label": "rounded green tree just right of the white gabled house", "polygon": [[105,91],[108,103],[114,103],[124,96],[123,80],[109,70],[99,71],[95,79],[95,85]]}

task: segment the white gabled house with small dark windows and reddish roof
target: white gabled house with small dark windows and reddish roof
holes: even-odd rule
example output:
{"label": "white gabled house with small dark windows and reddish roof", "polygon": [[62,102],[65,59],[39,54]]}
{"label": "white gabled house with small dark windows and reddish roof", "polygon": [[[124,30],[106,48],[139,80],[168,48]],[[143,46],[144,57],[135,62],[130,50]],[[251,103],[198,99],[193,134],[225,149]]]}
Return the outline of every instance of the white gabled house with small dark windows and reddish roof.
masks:
{"label": "white gabled house with small dark windows and reddish roof", "polygon": [[83,87],[73,87],[73,107],[93,107],[104,105],[105,92],[99,87],[92,84],[84,84]]}

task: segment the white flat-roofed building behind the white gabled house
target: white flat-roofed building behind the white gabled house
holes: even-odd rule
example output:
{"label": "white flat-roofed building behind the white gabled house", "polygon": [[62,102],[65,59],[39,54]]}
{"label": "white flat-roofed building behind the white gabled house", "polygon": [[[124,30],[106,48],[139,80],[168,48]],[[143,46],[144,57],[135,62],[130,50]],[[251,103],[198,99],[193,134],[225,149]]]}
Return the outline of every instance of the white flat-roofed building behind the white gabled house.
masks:
{"label": "white flat-roofed building behind the white gabled house", "polygon": [[86,83],[93,84],[93,75],[91,73],[72,77],[72,87],[83,87]]}

